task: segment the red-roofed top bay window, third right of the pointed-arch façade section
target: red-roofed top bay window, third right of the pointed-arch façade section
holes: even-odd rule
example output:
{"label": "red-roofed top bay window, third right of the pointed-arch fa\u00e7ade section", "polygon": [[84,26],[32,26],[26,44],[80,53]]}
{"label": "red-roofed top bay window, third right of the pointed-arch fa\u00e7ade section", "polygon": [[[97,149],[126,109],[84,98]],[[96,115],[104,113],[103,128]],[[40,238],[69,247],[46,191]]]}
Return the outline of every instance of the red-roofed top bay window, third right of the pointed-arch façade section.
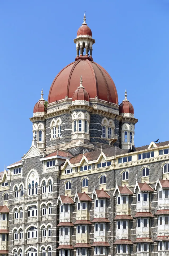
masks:
{"label": "red-roofed top bay window, third right of the pointed-arch fa\u00e7ade section", "polygon": [[94,218],[107,218],[107,201],[110,199],[103,188],[93,190],[92,200],[94,200]]}

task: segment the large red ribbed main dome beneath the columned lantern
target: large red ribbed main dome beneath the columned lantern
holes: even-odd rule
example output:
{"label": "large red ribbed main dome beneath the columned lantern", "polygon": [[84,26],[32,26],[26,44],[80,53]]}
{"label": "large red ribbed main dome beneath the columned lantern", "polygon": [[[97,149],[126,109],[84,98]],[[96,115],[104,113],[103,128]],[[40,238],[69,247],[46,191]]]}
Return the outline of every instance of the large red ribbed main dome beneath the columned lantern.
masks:
{"label": "large red ribbed main dome beneath the columned lantern", "polygon": [[79,87],[79,78],[83,77],[83,86],[90,99],[98,99],[118,103],[115,84],[103,67],[89,58],[79,58],[64,67],[55,77],[49,91],[48,102],[72,98],[74,91]]}

